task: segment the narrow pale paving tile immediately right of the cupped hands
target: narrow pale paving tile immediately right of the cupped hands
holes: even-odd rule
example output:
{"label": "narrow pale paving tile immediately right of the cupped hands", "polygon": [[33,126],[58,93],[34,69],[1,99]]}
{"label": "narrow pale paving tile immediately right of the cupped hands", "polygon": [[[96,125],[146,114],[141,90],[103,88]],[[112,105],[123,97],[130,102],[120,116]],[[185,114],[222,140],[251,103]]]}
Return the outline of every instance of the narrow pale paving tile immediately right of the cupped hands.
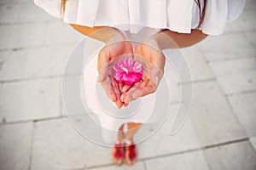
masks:
{"label": "narrow pale paving tile immediately right of the cupped hands", "polygon": [[183,48],[182,51],[191,69],[193,81],[211,79],[214,77],[199,48]]}

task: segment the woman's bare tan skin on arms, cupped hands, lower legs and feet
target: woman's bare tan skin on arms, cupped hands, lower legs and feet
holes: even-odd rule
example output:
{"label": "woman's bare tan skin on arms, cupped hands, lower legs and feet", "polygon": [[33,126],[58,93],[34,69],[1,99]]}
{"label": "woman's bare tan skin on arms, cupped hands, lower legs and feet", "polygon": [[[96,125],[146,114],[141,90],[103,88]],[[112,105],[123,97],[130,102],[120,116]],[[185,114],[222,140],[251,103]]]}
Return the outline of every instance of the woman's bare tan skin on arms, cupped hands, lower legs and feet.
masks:
{"label": "woman's bare tan skin on arms, cupped hands, lower legs and feet", "polygon": [[[199,30],[191,30],[190,34],[165,30],[147,37],[143,42],[137,45],[133,53],[131,42],[125,41],[125,36],[115,28],[108,26],[95,26],[90,28],[73,24],[71,26],[85,36],[106,43],[106,46],[102,48],[98,56],[97,68],[99,81],[102,82],[102,87],[105,89],[106,94],[108,94],[109,99],[111,99],[118,108],[129,105],[132,100],[154,93],[164,73],[166,59],[162,53],[163,49],[186,48],[207,37],[206,34]],[[171,42],[170,39],[172,39],[173,42]],[[132,86],[111,81],[112,77],[108,75],[107,70],[109,61],[121,54],[133,54],[134,59],[139,60],[143,64],[145,72],[143,81],[137,82]],[[123,132],[124,125],[119,127],[117,137],[119,141],[122,139],[132,140],[138,128],[142,126],[142,123],[128,122],[127,125],[128,130],[126,135]],[[131,161],[127,159],[127,157],[129,156],[126,156],[125,161],[128,165],[132,165],[136,161]],[[121,160],[113,161],[117,164],[121,163]]]}

